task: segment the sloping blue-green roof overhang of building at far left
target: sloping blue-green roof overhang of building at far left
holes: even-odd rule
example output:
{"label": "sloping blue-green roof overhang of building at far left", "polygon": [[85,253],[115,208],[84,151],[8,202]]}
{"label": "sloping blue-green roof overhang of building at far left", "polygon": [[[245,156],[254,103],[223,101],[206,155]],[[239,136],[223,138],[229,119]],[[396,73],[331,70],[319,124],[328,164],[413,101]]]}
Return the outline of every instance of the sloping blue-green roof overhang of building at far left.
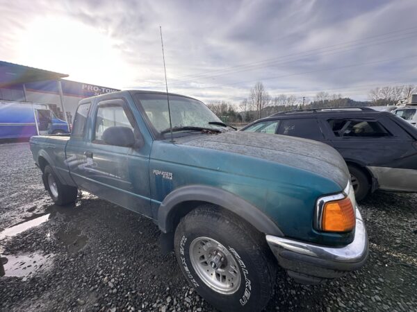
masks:
{"label": "sloping blue-green roof overhang of building at far left", "polygon": [[68,77],[66,73],[56,73],[20,64],[0,61],[0,87],[33,81],[57,80]]}

